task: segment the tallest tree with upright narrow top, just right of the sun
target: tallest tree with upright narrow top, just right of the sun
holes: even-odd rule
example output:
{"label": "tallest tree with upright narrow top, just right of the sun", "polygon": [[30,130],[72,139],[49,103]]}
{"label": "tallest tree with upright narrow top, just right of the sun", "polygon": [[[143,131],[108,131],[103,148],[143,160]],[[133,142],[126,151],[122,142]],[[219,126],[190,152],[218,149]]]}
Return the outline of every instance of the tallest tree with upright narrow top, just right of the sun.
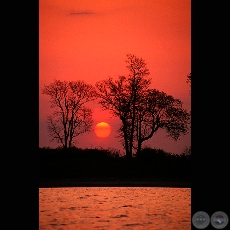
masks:
{"label": "tallest tree with upright narrow top, just right of the sun", "polygon": [[123,138],[126,156],[131,158],[138,104],[148,89],[151,79],[146,78],[149,70],[142,58],[128,54],[126,62],[129,70],[127,77],[120,76],[118,80],[109,78],[99,81],[96,83],[96,89],[102,107],[120,118],[122,122],[119,129],[120,136]]}

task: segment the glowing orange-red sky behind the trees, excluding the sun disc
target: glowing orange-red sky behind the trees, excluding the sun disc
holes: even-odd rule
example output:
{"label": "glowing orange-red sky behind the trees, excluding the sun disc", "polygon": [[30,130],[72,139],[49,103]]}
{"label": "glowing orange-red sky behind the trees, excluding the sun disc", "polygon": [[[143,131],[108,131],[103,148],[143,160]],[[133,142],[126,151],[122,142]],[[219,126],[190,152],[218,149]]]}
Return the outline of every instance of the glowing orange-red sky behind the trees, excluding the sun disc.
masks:
{"label": "glowing orange-red sky behind the trees, excluding the sun disc", "polygon": [[[39,0],[39,146],[51,143],[46,118],[49,97],[41,94],[53,80],[84,80],[92,85],[108,76],[126,75],[126,54],[142,57],[152,88],[164,91],[191,110],[191,2],[190,0]],[[105,121],[112,132],[98,139],[94,132],[79,136],[81,148],[122,150],[116,130],[119,120],[93,104],[94,124]],[[173,141],[159,131],[144,143],[172,153],[191,145],[190,133]],[[123,151],[123,150],[122,150]]]}

